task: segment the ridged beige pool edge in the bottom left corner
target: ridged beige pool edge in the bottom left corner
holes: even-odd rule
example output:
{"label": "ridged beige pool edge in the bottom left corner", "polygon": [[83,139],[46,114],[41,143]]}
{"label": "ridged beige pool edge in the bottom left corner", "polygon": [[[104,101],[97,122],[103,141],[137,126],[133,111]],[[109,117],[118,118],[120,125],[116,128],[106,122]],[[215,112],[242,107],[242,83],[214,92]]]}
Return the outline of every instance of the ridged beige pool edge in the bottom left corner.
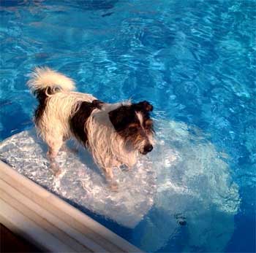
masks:
{"label": "ridged beige pool edge in the bottom left corner", "polygon": [[0,223],[44,252],[141,252],[0,161]]}

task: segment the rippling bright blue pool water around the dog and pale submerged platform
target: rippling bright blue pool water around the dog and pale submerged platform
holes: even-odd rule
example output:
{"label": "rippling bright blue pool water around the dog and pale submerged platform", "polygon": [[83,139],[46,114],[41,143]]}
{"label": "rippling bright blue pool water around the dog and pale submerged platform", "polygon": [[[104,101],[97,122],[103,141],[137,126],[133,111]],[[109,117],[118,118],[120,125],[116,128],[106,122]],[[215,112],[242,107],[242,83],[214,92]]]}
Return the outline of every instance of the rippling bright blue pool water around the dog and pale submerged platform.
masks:
{"label": "rippling bright blue pool water around the dog and pale submerged platform", "polygon": [[255,1],[1,0],[0,13],[0,140],[33,126],[37,102],[26,82],[34,66],[68,74],[102,101],[151,101],[155,119],[201,131],[222,154],[236,206],[202,206],[171,233],[170,219],[186,212],[163,212],[162,197],[132,229],[91,217],[148,252],[255,252]]}

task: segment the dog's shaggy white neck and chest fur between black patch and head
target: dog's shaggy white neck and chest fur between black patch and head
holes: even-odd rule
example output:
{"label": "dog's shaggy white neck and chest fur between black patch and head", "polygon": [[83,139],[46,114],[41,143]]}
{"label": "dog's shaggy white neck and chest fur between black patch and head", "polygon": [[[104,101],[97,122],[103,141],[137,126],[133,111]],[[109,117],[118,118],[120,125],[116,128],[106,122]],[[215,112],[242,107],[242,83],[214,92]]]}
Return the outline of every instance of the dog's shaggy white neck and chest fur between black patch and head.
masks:
{"label": "dog's shaggy white neck and chest fur between black patch and head", "polygon": [[131,168],[135,165],[138,157],[138,152],[127,147],[124,139],[118,136],[108,117],[108,112],[118,106],[121,104],[107,104],[101,110],[95,109],[85,126],[91,154],[99,167],[103,168],[110,178],[113,176],[113,167],[126,165]]}

